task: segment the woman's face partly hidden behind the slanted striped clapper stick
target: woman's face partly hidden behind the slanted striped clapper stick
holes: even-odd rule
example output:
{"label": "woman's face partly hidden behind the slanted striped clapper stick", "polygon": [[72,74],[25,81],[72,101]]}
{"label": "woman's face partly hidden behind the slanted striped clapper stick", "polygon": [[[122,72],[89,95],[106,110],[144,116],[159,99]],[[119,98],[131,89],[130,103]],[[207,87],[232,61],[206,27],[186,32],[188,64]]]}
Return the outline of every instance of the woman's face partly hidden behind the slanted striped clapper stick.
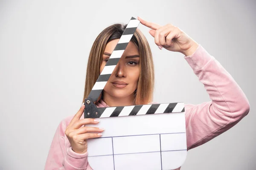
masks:
{"label": "woman's face partly hidden behind the slanted striped clapper stick", "polygon": [[[118,41],[119,39],[112,40],[106,45],[102,56],[103,59],[100,67],[100,73],[102,72]],[[134,95],[140,75],[139,65],[139,51],[134,43],[130,41],[111,74],[111,77],[105,85],[103,90],[104,96],[107,94],[113,98],[123,98]]]}

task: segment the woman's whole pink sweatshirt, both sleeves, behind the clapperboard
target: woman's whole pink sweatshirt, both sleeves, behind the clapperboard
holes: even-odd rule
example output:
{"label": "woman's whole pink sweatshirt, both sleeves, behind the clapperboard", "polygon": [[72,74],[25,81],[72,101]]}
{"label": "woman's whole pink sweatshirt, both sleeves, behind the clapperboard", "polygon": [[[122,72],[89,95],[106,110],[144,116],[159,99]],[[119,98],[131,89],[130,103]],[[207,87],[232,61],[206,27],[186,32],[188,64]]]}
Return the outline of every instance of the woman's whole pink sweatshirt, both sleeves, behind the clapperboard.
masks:
{"label": "woman's whole pink sweatshirt, both sleeves, behind the clapperboard", "polygon": [[[198,105],[185,104],[186,139],[189,150],[236,125],[249,113],[250,104],[233,77],[201,45],[194,54],[184,58],[199,81],[204,84],[212,100]],[[108,105],[101,101],[98,107],[108,107]],[[66,127],[73,116],[62,120],[58,125],[45,170],[92,170],[87,161],[87,153],[75,153],[65,135]],[[81,119],[84,119],[84,115]]]}

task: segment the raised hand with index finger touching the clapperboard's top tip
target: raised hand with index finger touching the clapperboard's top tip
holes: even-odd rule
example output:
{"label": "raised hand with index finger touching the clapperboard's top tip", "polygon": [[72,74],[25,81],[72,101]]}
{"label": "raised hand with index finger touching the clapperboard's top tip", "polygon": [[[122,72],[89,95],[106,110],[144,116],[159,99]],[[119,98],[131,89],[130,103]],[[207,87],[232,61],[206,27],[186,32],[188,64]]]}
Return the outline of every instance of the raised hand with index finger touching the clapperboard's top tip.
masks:
{"label": "raised hand with index finger touching the clapperboard's top tip", "polygon": [[192,40],[180,28],[167,24],[160,26],[156,23],[150,23],[138,17],[140,23],[151,28],[149,34],[154,37],[155,43],[160,49],[165,48],[169,51],[177,51],[186,56],[192,55],[198,47],[198,43]]}

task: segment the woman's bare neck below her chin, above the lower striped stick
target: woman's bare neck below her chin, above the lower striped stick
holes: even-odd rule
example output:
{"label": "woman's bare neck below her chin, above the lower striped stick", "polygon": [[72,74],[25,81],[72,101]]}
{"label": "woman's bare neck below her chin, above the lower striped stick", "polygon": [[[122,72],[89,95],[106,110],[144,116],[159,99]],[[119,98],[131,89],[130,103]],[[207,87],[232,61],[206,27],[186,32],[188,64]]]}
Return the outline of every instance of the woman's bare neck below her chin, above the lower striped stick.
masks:
{"label": "woman's bare neck below her chin, above the lower striped stick", "polygon": [[107,93],[104,93],[103,95],[103,101],[106,102],[106,104],[109,105],[110,107],[134,105],[133,100],[134,100],[134,94],[131,94],[130,96],[122,97],[122,98],[114,97]]}

